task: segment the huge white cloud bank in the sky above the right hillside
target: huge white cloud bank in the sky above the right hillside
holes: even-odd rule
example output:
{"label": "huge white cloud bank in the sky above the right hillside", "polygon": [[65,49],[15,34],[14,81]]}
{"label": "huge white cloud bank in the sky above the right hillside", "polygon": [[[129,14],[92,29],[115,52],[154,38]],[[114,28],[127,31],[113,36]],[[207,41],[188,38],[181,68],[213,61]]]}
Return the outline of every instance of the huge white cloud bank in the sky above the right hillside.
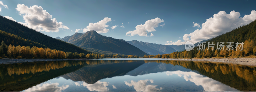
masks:
{"label": "huge white cloud bank in the sky above the right hillside", "polygon": [[252,10],[251,14],[244,15],[244,17],[240,16],[240,13],[234,10],[229,14],[225,11],[220,11],[219,13],[214,14],[213,17],[206,19],[206,22],[202,24],[202,28],[200,30],[197,29],[190,34],[185,34],[183,36],[183,40],[197,43],[202,40],[219,36],[239,26],[243,26],[254,21],[256,19],[256,11]]}

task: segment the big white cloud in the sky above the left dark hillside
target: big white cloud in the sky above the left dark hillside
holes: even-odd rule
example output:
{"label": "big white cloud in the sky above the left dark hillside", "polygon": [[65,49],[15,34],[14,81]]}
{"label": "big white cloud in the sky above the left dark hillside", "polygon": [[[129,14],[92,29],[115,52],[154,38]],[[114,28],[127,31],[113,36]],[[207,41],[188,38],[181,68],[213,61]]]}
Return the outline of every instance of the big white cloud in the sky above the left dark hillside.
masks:
{"label": "big white cloud in the sky above the left dark hillside", "polygon": [[61,22],[57,22],[56,18],[52,19],[52,15],[41,6],[28,7],[24,4],[18,4],[16,10],[25,20],[25,23],[19,23],[37,31],[58,32],[60,28],[68,29],[67,26],[63,27]]}

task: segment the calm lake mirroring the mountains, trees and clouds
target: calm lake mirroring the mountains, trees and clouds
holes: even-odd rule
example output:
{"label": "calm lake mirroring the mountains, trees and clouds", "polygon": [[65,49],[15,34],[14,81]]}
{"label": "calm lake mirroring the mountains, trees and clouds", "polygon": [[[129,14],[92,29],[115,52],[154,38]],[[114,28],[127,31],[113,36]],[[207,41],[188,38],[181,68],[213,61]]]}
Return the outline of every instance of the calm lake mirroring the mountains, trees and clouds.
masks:
{"label": "calm lake mirroring the mountains, trees and clouds", "polygon": [[0,64],[1,91],[256,91],[256,66],[168,59]]}

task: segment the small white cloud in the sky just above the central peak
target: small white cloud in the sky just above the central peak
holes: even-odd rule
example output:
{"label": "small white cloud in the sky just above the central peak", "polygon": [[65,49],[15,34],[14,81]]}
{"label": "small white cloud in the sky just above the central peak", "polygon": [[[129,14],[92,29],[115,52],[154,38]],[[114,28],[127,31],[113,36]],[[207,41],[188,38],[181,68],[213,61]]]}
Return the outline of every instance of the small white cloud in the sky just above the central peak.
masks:
{"label": "small white cloud in the sky just above the central peak", "polygon": [[107,33],[109,29],[106,29],[108,25],[106,23],[110,22],[111,18],[105,17],[103,20],[100,20],[97,23],[89,23],[89,25],[84,28],[83,32],[94,30],[98,33]]}

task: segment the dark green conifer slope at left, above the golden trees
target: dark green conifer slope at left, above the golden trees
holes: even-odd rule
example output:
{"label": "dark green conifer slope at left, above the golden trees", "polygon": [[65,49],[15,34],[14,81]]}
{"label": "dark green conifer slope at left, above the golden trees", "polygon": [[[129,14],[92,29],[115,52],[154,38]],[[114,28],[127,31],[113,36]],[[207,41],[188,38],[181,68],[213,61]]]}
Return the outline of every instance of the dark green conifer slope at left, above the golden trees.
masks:
{"label": "dark green conifer slope at left, above the golden trees", "polygon": [[[0,16],[0,30],[5,31],[7,33],[12,33],[13,35],[20,36],[21,38],[24,38],[24,39],[29,39],[37,43],[44,44],[50,49],[61,50],[64,52],[77,52],[77,53],[85,53],[85,54],[89,53],[88,50],[82,49],[73,44],[66,43],[56,38],[52,38],[50,36],[44,35],[41,32],[30,29],[24,25],[21,25],[20,23],[9,20],[3,16]],[[6,45],[9,45],[12,43],[16,44],[16,42],[12,42],[11,39],[9,40],[9,38],[3,38],[3,39]],[[6,42],[7,40],[8,42]],[[23,44],[23,43],[20,43],[20,44]],[[28,45],[23,45],[23,46],[28,46]]]}

